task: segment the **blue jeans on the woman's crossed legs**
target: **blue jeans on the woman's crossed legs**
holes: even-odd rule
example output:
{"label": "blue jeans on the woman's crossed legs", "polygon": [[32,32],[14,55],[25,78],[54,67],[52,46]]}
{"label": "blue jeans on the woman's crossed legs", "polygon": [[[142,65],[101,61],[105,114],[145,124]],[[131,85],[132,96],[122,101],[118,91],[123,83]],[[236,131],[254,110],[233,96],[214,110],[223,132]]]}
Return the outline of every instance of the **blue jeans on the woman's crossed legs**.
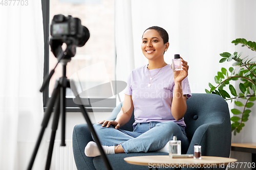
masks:
{"label": "blue jeans on the woman's crossed legs", "polygon": [[173,136],[181,140],[181,152],[185,154],[189,147],[189,141],[182,126],[168,122],[138,123],[134,131],[102,127],[94,125],[94,129],[99,137],[101,145],[113,146],[121,143],[125,153],[149,152],[162,149]]}

